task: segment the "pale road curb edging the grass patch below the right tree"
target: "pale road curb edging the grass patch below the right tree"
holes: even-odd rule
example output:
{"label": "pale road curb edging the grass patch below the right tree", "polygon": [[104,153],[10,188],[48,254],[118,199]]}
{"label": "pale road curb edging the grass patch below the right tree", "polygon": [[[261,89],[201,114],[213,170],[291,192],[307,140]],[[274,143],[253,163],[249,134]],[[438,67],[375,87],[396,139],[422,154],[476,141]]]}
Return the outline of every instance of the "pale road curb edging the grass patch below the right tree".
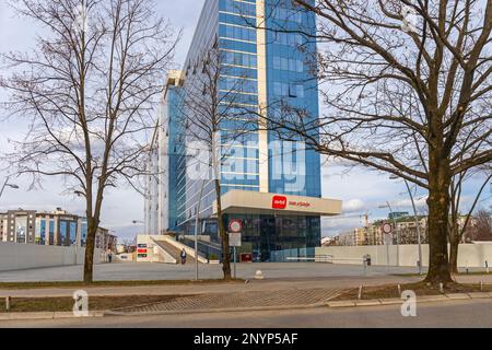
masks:
{"label": "pale road curb edging the grass patch below the right tree", "polygon": [[[455,294],[441,294],[441,295],[423,295],[418,296],[417,302],[421,303],[435,303],[435,302],[449,302],[460,300],[475,300],[475,299],[492,299],[492,293],[455,293]],[[380,305],[396,305],[402,304],[402,299],[374,299],[374,300],[342,300],[327,302],[325,305],[328,307],[358,307],[358,306],[380,306]]]}

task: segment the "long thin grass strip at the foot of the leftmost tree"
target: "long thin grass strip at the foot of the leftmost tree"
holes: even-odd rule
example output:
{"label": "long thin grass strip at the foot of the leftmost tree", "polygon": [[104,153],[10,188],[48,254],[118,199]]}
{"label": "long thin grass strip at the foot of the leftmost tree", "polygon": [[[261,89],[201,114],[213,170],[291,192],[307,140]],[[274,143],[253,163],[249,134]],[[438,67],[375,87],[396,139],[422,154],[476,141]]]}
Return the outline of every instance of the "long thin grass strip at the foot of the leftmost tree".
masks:
{"label": "long thin grass strip at the foot of the leftmost tree", "polygon": [[46,288],[91,288],[91,287],[138,287],[138,285],[192,285],[192,284],[214,284],[214,283],[244,283],[243,279],[224,281],[215,280],[159,280],[159,281],[96,281],[84,284],[80,281],[71,282],[0,282],[0,290],[14,289],[46,289]]}

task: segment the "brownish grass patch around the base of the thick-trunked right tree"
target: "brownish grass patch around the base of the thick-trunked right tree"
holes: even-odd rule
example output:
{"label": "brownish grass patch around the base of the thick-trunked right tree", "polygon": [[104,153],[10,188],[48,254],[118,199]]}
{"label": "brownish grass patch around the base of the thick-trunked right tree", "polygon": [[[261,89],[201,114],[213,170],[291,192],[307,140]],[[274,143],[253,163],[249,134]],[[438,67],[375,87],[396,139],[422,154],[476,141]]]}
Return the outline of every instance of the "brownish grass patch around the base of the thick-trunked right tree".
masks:
{"label": "brownish grass patch around the base of the thick-trunked right tree", "polygon": [[[423,282],[401,284],[401,291],[411,290],[414,291],[417,296],[422,295],[438,295],[441,294],[438,287],[431,287]],[[492,292],[491,284],[483,284],[483,290],[480,289],[480,284],[459,284],[449,283],[444,288],[444,293],[472,293],[472,292]],[[363,287],[362,300],[371,299],[390,299],[401,298],[398,294],[398,284],[385,284],[374,287]],[[335,300],[356,300],[359,299],[359,288],[350,289],[342,292]]]}

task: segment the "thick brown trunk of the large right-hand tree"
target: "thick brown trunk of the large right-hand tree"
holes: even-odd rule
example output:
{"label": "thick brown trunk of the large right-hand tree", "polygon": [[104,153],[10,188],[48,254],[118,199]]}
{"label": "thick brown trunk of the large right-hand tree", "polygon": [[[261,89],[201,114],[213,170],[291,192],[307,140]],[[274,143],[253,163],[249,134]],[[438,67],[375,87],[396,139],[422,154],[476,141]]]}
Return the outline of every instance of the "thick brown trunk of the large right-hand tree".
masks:
{"label": "thick brown trunk of the large right-hand tree", "polygon": [[450,172],[441,150],[430,150],[429,172],[429,245],[430,260],[426,282],[432,284],[452,282],[447,238],[449,230],[449,185]]}

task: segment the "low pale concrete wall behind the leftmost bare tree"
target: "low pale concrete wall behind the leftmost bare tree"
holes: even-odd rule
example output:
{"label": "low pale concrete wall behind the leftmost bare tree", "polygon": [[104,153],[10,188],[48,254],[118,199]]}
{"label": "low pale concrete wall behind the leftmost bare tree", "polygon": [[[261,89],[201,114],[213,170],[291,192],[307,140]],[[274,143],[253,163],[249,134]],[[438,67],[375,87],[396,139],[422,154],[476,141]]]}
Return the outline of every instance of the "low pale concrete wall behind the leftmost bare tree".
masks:
{"label": "low pale concrete wall behind the leftmost bare tree", "polygon": [[[0,271],[84,264],[85,248],[58,247],[35,244],[0,243]],[[102,261],[99,249],[94,252],[94,262]]]}

